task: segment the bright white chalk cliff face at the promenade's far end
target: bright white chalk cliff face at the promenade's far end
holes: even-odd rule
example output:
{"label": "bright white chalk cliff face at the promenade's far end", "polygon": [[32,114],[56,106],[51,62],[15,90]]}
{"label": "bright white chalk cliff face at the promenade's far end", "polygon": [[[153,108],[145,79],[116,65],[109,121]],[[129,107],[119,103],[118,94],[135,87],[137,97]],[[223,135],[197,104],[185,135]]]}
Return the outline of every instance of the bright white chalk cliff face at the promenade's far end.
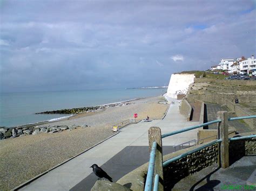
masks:
{"label": "bright white chalk cliff face at the promenade's far end", "polygon": [[188,87],[194,82],[194,74],[172,74],[166,96],[177,98],[178,94],[187,94]]}

